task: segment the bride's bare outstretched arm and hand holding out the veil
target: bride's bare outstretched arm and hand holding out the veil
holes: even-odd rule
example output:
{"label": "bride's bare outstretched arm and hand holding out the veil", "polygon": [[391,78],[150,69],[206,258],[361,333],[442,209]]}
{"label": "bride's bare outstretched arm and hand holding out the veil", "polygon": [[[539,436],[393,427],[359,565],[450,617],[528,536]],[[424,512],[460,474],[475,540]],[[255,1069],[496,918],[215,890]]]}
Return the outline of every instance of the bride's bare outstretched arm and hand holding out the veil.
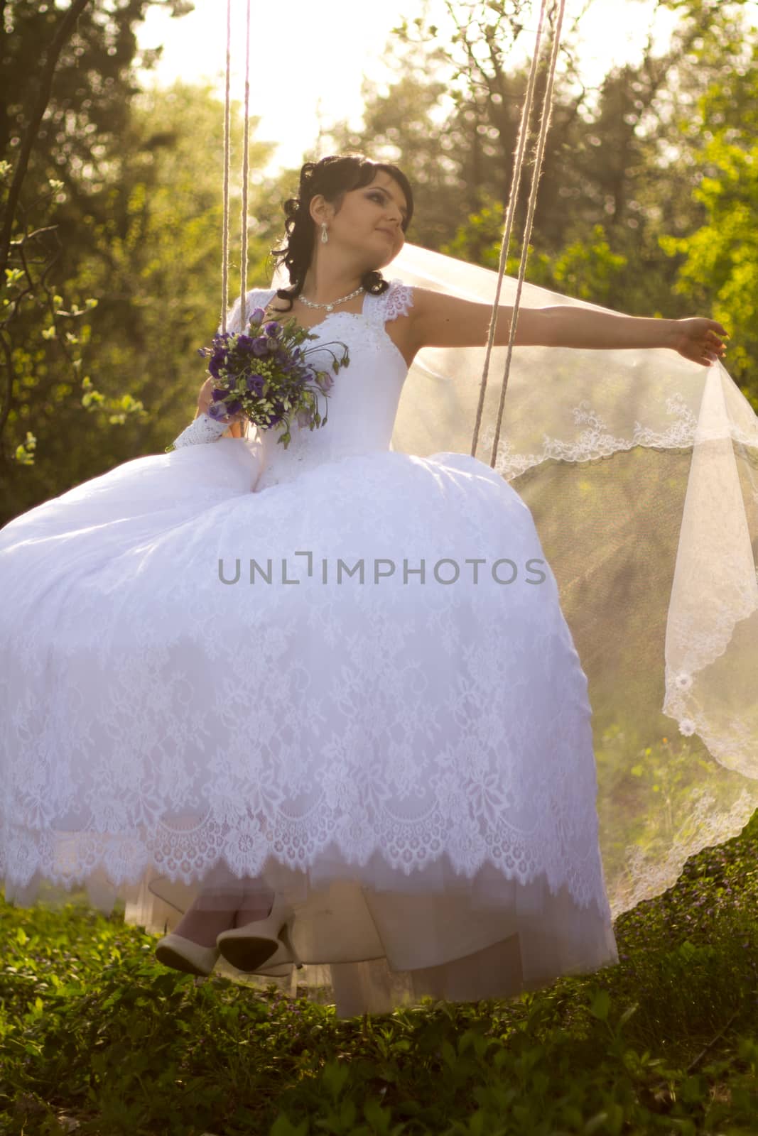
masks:
{"label": "bride's bare outstretched arm and hand holding out the veil", "polygon": [[[492,308],[444,292],[414,289],[410,335],[416,351],[424,346],[465,348],[486,343]],[[498,308],[494,343],[508,343],[513,308]],[[522,308],[516,324],[516,346],[672,348],[685,359],[709,366],[726,350],[728,335],[715,319],[657,319],[593,311],[574,304]],[[713,357],[713,358],[711,358]]]}

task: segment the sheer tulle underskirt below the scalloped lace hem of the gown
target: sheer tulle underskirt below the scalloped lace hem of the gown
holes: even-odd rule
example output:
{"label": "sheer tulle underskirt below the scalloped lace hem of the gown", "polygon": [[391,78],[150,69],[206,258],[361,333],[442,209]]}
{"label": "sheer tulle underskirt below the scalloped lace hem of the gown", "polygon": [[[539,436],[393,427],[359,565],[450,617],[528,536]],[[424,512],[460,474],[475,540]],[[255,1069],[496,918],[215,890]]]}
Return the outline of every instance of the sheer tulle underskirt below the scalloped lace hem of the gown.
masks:
{"label": "sheer tulle underskirt below the scalloped lace hem of the gown", "polygon": [[[39,878],[6,897],[30,905],[44,894],[60,904],[63,887]],[[275,860],[255,880],[238,879],[224,864],[202,883],[172,883],[150,869],[134,885],[114,888],[93,872],[86,892],[105,913],[120,900],[128,924],[153,934],[176,927],[190,904],[234,908],[244,893],[275,891],[294,909],[292,941],[303,966],[265,963],[240,976],[223,960],[217,968],[260,988],[280,989],[335,1004],[338,1018],[389,1013],[422,997],[452,1002],[510,999],[556,978],[595,971],[618,962],[607,911],[591,900],[582,907],[544,874],[528,883],[484,864],[473,879],[456,872],[447,855],[409,875],[373,857],[359,870],[336,850],[300,871]]]}

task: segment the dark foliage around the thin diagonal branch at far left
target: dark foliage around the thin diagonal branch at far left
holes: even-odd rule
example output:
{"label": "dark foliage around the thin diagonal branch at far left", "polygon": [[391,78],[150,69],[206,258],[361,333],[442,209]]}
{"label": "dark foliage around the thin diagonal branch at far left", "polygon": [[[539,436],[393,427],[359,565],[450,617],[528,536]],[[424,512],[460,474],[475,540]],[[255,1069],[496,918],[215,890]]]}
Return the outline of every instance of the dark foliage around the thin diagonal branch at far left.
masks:
{"label": "dark foliage around the thin diagonal branch at far left", "polygon": [[[70,289],[63,283],[76,254],[75,242],[66,247],[61,234],[68,222],[81,239],[82,215],[128,120],[133,93],[131,68],[138,61],[143,66],[155,61],[156,52],[143,52],[140,57],[133,34],[134,24],[142,19],[150,2],[165,2],[175,16],[191,7],[186,0],[127,0],[116,10],[103,0],[86,5],[63,43],[49,90],[41,82],[42,67],[47,48],[64,20],[61,6],[36,0],[3,5],[0,27],[7,92],[0,112],[3,206],[10,201],[10,186],[33,108],[41,94],[45,100],[44,116],[32,139],[20,198],[10,210],[11,266],[6,270],[0,312],[5,365],[0,385],[0,442],[7,440],[0,446],[0,481],[3,507],[11,512],[17,486],[26,502],[35,488],[39,493],[40,482],[49,493],[50,475],[18,467],[36,467],[38,442],[47,456],[44,419],[53,423],[52,428],[59,433],[61,407],[69,406],[74,390],[82,382],[84,349],[91,332],[91,324],[82,317],[98,301],[82,282],[70,281]],[[83,406],[89,410],[102,407],[111,411],[110,421],[123,421],[142,412],[135,400],[123,403],[120,395],[115,406],[107,395]],[[33,432],[28,429],[32,421]],[[5,519],[7,515],[0,517],[0,523]]]}

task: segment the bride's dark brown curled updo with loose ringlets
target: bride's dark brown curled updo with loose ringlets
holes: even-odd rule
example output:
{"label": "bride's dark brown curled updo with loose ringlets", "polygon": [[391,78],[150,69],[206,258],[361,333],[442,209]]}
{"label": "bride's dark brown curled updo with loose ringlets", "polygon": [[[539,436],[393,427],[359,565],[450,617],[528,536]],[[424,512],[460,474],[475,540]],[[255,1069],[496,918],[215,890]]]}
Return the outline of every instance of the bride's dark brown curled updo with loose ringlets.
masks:
{"label": "bride's dark brown curled updo with loose ringlets", "polygon": [[[307,161],[303,165],[300,170],[298,197],[289,198],[284,202],[286,216],[284,244],[278,249],[272,249],[272,256],[276,264],[284,264],[290,273],[290,287],[281,287],[276,292],[276,295],[282,300],[290,301],[288,310],[292,310],[292,301],[302,291],[314,252],[316,225],[310,216],[311,199],[317,193],[323,193],[326,200],[339,210],[344,194],[350,190],[359,190],[364,185],[369,185],[378,170],[390,174],[406,195],[408,216],[402,222],[405,233],[414,214],[414,194],[410,182],[397,166],[385,161],[372,161],[363,153],[331,154],[327,158],[322,158],[320,161]],[[390,286],[377,269],[364,273],[360,283],[367,292],[372,292],[374,295],[386,292]]]}

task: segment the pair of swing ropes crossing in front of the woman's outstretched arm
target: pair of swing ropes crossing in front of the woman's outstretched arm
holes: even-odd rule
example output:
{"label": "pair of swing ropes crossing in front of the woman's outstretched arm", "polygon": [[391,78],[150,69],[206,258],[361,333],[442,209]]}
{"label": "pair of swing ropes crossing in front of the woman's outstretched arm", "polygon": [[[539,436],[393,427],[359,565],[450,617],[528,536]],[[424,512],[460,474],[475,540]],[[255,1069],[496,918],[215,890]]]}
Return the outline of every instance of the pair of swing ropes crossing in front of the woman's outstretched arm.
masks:
{"label": "pair of swing ropes crossing in front of the woman's outstretched arm", "polygon": [[[497,456],[497,452],[498,452],[498,442],[500,440],[500,425],[501,425],[501,421],[502,421],[502,408],[503,408],[503,403],[505,403],[505,399],[506,399],[506,390],[507,390],[507,386],[508,386],[508,376],[510,374],[510,360],[511,360],[511,356],[513,356],[514,341],[516,339],[516,325],[517,325],[517,320],[518,320],[518,309],[519,309],[519,304],[520,304],[522,289],[523,289],[523,284],[524,284],[524,277],[526,275],[526,261],[527,261],[527,258],[528,258],[528,242],[530,242],[530,236],[532,235],[532,223],[533,223],[533,219],[534,219],[534,209],[535,209],[535,206],[536,206],[536,191],[538,191],[538,185],[540,183],[540,177],[542,176],[542,167],[543,167],[543,161],[544,161],[545,141],[547,141],[547,137],[548,137],[548,130],[549,130],[549,126],[550,126],[550,119],[551,119],[551,114],[552,114],[552,92],[553,92],[555,77],[556,77],[556,66],[557,66],[557,61],[558,61],[558,49],[559,49],[559,45],[560,45],[560,31],[561,31],[563,20],[564,20],[565,3],[566,3],[566,0],[556,0],[556,2],[553,5],[553,10],[555,10],[556,7],[558,8],[558,19],[556,22],[556,27],[555,27],[555,31],[552,33],[552,50],[551,50],[550,62],[549,62],[549,67],[548,67],[548,82],[547,82],[547,85],[545,85],[544,99],[543,99],[543,103],[542,103],[542,116],[541,116],[541,120],[540,120],[540,133],[539,133],[539,137],[538,137],[538,144],[536,144],[535,156],[534,156],[534,166],[533,166],[533,170],[532,170],[532,186],[531,186],[531,191],[530,191],[530,199],[528,199],[528,206],[527,206],[527,212],[526,212],[526,222],[525,222],[525,225],[524,225],[524,235],[523,235],[523,243],[522,243],[522,258],[520,258],[520,264],[519,264],[519,267],[518,267],[518,283],[517,283],[517,286],[516,286],[516,298],[515,298],[515,301],[514,301],[513,315],[511,315],[511,320],[510,320],[510,329],[509,329],[509,336],[508,336],[508,353],[507,353],[507,357],[506,357],[506,367],[505,367],[505,373],[503,373],[503,378],[502,378],[502,386],[501,386],[501,390],[500,390],[500,403],[499,403],[499,407],[498,407],[498,421],[497,421],[495,434],[494,434],[494,438],[493,438],[493,443],[492,443],[492,452],[490,454],[490,466],[491,466],[491,468],[494,468],[495,456]],[[507,262],[507,259],[508,259],[508,251],[510,249],[510,239],[511,239],[511,233],[513,233],[514,215],[515,215],[515,211],[516,211],[516,199],[518,197],[518,189],[520,186],[522,170],[523,170],[523,166],[524,166],[524,152],[525,152],[525,149],[526,149],[526,136],[527,136],[527,133],[528,133],[528,123],[531,120],[532,109],[533,109],[533,106],[534,106],[534,89],[535,89],[535,80],[536,80],[536,69],[538,69],[538,60],[539,60],[539,57],[540,57],[540,42],[541,42],[541,37],[542,37],[542,28],[543,28],[543,24],[544,24],[545,10],[547,10],[547,0],[542,0],[542,7],[540,9],[540,20],[539,20],[538,31],[536,31],[536,41],[535,41],[535,45],[534,45],[534,55],[532,56],[532,66],[531,66],[531,69],[530,69],[528,84],[527,84],[527,89],[526,89],[526,95],[525,95],[525,99],[524,99],[524,107],[523,107],[523,110],[522,110],[522,120],[520,120],[519,131],[518,131],[518,143],[517,143],[517,148],[516,148],[516,161],[514,164],[514,173],[513,173],[513,178],[511,178],[511,183],[510,183],[510,193],[509,193],[509,197],[508,197],[508,209],[507,209],[507,217],[506,217],[506,227],[505,227],[505,232],[503,232],[503,235],[502,235],[502,243],[500,245],[500,262],[499,262],[499,266],[498,266],[498,283],[497,283],[497,289],[495,289],[494,301],[493,301],[493,304],[492,304],[492,316],[490,318],[490,327],[489,327],[489,332],[488,332],[488,345],[486,345],[486,353],[485,353],[485,358],[484,358],[484,368],[483,368],[483,371],[482,371],[482,382],[481,382],[481,387],[480,387],[480,401],[478,401],[478,406],[476,408],[476,421],[474,424],[474,436],[473,436],[472,449],[470,449],[472,457],[475,457],[475,454],[476,454],[476,444],[477,444],[477,441],[478,441],[478,432],[480,432],[480,426],[481,426],[481,423],[482,423],[482,411],[483,411],[483,407],[484,407],[484,393],[486,391],[486,381],[488,381],[488,375],[489,375],[489,370],[490,370],[490,358],[491,358],[491,354],[492,354],[492,345],[494,343],[494,334],[495,334],[497,321],[498,321],[498,306],[499,306],[499,302],[500,302],[500,292],[501,292],[501,287],[502,287],[502,279],[503,279],[503,276],[505,276],[505,273],[506,273],[506,262]]]}

